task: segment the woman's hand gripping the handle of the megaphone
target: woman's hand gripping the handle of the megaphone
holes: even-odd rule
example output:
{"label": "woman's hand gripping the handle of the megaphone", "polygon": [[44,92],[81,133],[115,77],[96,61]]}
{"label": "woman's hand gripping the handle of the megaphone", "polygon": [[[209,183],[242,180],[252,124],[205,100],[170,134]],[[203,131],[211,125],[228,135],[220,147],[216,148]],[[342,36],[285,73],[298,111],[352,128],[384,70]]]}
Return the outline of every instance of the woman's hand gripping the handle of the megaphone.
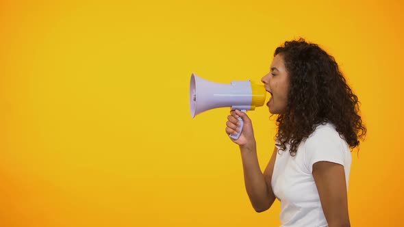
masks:
{"label": "woman's hand gripping the handle of the megaphone", "polygon": [[251,123],[251,119],[247,114],[242,111],[236,109],[236,111],[230,111],[229,116],[227,116],[226,122],[226,133],[227,135],[237,135],[238,131],[240,131],[240,122],[238,121],[238,117],[240,116],[244,121],[244,127],[242,129],[242,133],[240,137],[236,140],[231,139],[234,143],[238,144],[240,147],[244,146],[255,146],[255,137],[253,132],[253,124]]}

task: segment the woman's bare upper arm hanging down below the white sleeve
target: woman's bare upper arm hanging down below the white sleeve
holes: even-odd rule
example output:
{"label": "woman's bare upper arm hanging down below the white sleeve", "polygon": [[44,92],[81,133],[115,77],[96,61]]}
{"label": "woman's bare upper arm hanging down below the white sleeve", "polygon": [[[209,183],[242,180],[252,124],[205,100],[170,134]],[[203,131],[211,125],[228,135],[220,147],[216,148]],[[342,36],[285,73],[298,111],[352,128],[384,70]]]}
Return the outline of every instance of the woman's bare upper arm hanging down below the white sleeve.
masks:
{"label": "woman's bare upper arm hanging down below the white sleeve", "polygon": [[350,226],[344,166],[318,161],[313,164],[313,177],[329,226]]}

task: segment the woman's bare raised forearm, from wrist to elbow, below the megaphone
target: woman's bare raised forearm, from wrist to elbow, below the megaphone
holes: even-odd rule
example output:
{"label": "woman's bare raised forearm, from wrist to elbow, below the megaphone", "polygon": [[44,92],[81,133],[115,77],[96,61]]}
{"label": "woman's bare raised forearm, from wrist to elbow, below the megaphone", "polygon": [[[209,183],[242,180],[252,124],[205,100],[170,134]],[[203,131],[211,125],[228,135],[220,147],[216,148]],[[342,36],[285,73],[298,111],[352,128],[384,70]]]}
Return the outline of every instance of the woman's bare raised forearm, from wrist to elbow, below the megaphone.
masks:
{"label": "woman's bare raised forearm, from wrist to elbow, below the megaphone", "polygon": [[273,193],[270,193],[272,190],[266,184],[264,174],[260,169],[256,146],[255,144],[253,146],[240,146],[240,152],[244,183],[251,204],[257,212],[266,211],[275,200],[275,196],[270,196]]}

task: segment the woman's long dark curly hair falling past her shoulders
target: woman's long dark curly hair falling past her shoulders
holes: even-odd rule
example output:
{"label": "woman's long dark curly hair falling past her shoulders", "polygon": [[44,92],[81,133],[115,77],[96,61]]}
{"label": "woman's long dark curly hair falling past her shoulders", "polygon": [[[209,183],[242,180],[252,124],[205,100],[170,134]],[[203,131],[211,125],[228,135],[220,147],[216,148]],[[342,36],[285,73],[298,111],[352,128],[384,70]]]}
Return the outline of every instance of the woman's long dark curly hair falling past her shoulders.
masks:
{"label": "woman's long dark curly hair falling past her shoulders", "polygon": [[275,50],[285,62],[290,79],[286,111],[277,116],[277,146],[290,155],[316,126],[331,122],[350,148],[363,141],[366,127],[359,116],[359,101],[333,56],[318,44],[299,40],[286,41]]}

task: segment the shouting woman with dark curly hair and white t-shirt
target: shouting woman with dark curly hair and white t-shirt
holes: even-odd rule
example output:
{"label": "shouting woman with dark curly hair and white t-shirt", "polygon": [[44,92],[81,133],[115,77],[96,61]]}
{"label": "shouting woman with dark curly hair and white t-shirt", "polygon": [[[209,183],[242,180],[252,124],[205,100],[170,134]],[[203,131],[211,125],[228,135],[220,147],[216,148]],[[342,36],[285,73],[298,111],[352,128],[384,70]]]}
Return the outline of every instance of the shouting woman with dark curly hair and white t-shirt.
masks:
{"label": "shouting woman with dark curly hair and white t-shirt", "polygon": [[350,226],[347,202],[351,149],[366,128],[359,102],[335,59],[303,39],[275,50],[262,78],[277,114],[275,149],[264,173],[257,159],[253,126],[247,114],[231,111],[226,133],[239,139],[244,181],[253,208],[266,211],[281,201],[282,226]]}

